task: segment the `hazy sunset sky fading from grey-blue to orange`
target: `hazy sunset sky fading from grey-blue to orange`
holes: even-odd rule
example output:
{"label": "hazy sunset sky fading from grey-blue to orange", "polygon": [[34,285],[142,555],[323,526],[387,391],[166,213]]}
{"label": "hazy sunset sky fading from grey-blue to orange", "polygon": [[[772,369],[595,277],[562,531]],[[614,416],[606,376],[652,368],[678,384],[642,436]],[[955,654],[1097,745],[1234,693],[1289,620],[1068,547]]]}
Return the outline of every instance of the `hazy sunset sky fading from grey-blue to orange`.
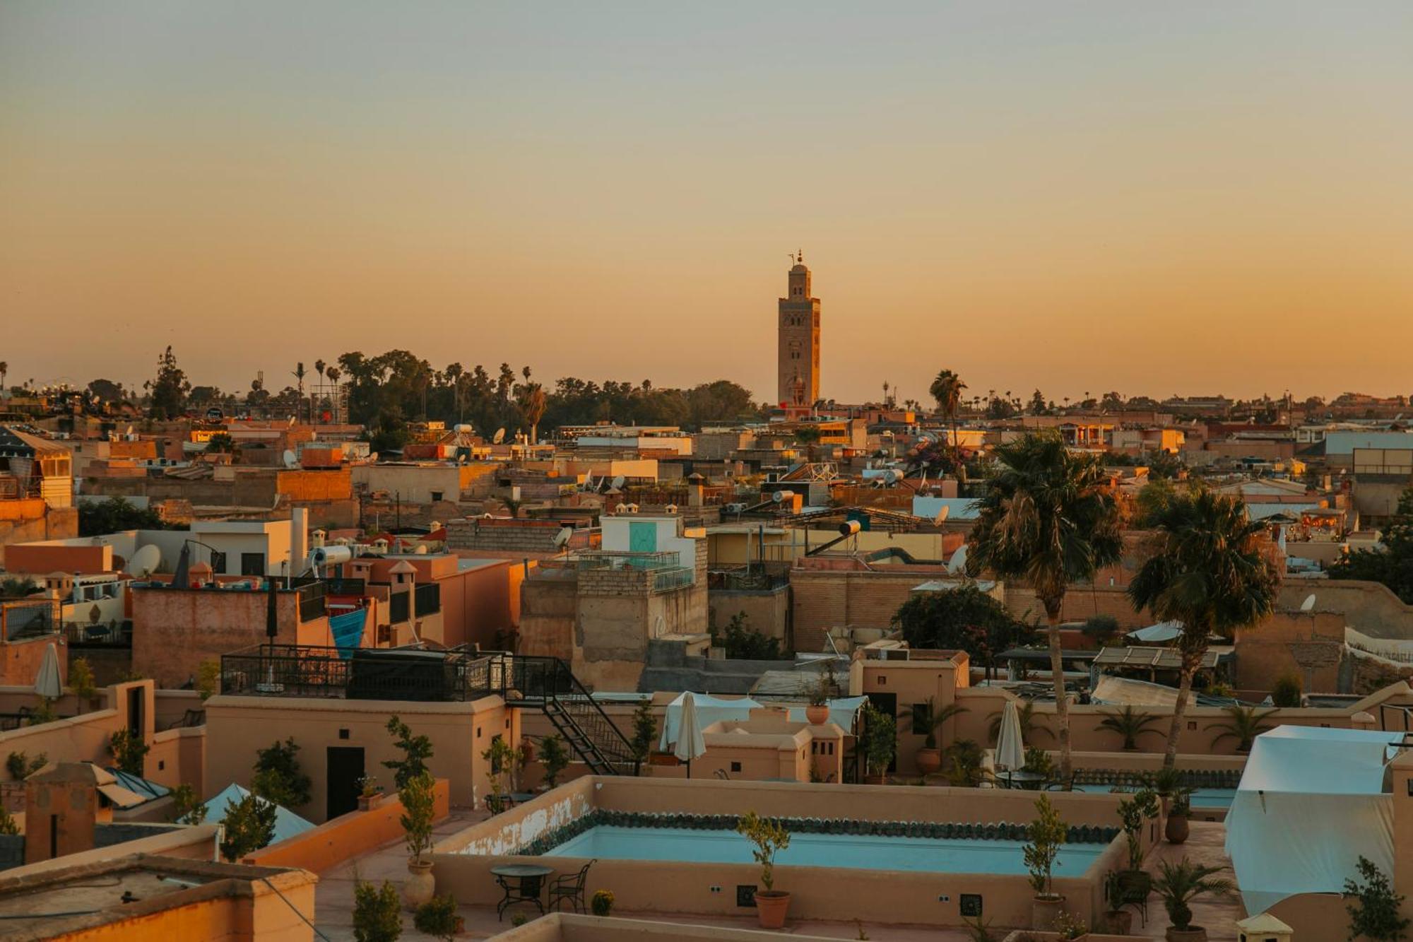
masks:
{"label": "hazy sunset sky fading from grey-blue to orange", "polygon": [[0,0],[8,382],[1413,393],[1413,4]]}

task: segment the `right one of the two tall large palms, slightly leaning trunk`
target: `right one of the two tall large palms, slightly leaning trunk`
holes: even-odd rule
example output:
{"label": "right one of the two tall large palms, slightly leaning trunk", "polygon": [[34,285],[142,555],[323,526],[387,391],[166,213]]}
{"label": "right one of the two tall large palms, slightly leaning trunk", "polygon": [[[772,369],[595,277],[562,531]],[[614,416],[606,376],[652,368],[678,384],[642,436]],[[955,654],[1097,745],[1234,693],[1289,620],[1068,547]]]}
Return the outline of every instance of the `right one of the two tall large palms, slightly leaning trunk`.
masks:
{"label": "right one of the two tall large palms, slightly leaning trunk", "polygon": [[1152,518],[1157,550],[1129,583],[1135,608],[1178,621],[1181,669],[1164,765],[1177,761],[1193,676],[1212,632],[1228,636],[1270,614],[1280,576],[1259,543],[1265,526],[1246,516],[1241,498],[1205,488],[1177,494]]}

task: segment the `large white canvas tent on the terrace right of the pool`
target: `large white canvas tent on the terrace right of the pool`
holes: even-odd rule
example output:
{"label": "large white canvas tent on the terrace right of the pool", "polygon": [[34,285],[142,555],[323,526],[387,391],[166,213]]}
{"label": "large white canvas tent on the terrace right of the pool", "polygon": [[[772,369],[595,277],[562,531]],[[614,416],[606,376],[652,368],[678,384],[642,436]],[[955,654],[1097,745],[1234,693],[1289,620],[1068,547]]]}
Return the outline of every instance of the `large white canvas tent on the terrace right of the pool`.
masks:
{"label": "large white canvas tent on the terrace right of the pool", "polygon": [[1226,856],[1248,912],[1340,892],[1359,857],[1393,873],[1389,748],[1403,733],[1282,726],[1256,737],[1226,815]]}

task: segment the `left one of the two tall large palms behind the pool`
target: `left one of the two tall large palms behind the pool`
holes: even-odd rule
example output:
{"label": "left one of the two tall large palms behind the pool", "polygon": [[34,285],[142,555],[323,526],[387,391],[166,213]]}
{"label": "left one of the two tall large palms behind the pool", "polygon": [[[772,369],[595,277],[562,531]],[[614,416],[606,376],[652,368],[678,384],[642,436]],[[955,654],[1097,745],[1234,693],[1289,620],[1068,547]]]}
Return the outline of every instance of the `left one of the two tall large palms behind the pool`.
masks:
{"label": "left one of the two tall large palms behind the pool", "polygon": [[1118,562],[1119,509],[1104,468],[1071,454],[1053,431],[1026,434],[996,448],[996,474],[979,501],[968,540],[966,570],[1024,578],[1046,610],[1050,670],[1056,686],[1060,771],[1070,778],[1070,702],[1060,651],[1060,612],[1071,583],[1091,581]]}

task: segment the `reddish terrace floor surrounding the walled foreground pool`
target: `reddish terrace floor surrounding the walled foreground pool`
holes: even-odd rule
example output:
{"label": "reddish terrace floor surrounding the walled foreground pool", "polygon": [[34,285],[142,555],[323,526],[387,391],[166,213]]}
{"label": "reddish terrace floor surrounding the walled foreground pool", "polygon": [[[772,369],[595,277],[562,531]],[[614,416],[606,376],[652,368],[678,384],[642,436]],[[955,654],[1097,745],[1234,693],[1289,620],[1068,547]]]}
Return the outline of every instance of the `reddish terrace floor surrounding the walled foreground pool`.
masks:
{"label": "reddish terrace floor surrounding the walled foreground pool", "polygon": [[[486,819],[485,812],[468,809],[452,809],[451,818],[439,822],[434,829],[434,840],[442,840],[471,825]],[[1154,847],[1147,859],[1146,867],[1154,868],[1160,860],[1181,860],[1187,857],[1231,867],[1222,850],[1226,829],[1221,823],[1193,822],[1191,836],[1187,843],[1173,846],[1161,843]],[[341,864],[319,874],[319,885],[315,895],[315,924],[319,932],[329,942],[353,942],[353,881],[360,880],[391,880],[401,884],[407,876],[407,853],[403,842],[393,842],[359,857],[355,861]],[[1231,876],[1229,873],[1226,876]],[[510,928],[510,915],[504,922],[496,919],[493,907],[461,907],[461,917],[466,921],[466,931],[456,938],[461,939],[489,939]],[[530,911],[533,914],[533,909]],[[1198,901],[1193,905],[1194,922],[1207,926],[1208,942],[1236,942],[1236,931],[1232,924],[1245,915],[1239,897],[1217,901]],[[757,928],[753,915],[745,917],[698,917],[663,912],[626,912],[615,911],[613,915],[625,918],[660,919],[666,922],[680,922],[685,925],[718,925],[732,928]],[[1149,902],[1147,926],[1139,926],[1135,921],[1133,934],[1153,939],[1161,939],[1167,928],[1167,915],[1161,902],[1153,898]],[[855,922],[821,922],[814,919],[791,919],[788,928],[781,935],[817,935],[835,939],[858,939],[859,924]],[[999,928],[999,926],[996,926]],[[933,926],[907,925],[879,925],[865,922],[863,932],[875,942],[971,942],[971,935],[961,929],[940,929]],[[1005,934],[998,934],[1005,935]],[[403,939],[408,942],[432,942],[432,936],[424,935],[413,928],[411,914],[404,914]]]}

